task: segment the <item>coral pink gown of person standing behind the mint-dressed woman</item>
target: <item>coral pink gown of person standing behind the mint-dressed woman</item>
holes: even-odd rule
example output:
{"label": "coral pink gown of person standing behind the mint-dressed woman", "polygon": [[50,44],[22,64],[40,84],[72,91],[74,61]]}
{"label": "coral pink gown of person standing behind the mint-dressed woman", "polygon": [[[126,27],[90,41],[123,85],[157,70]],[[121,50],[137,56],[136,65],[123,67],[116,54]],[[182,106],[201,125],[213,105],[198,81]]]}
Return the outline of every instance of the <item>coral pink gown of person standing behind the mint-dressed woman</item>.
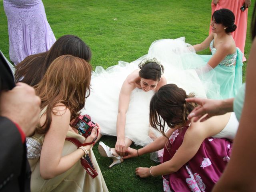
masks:
{"label": "coral pink gown of person standing behind the mint-dressed woman", "polygon": [[[240,7],[244,4],[244,0],[219,0],[217,6],[212,3],[212,14],[214,11],[226,8],[231,10],[235,15],[235,24],[237,26],[236,30],[231,33],[232,37],[236,42],[236,47],[240,48],[244,54],[244,45],[246,40],[246,30],[247,30],[247,14],[248,9],[246,8],[244,12],[240,10]],[[212,32],[210,27],[209,34]],[[243,62],[246,58],[243,56]]]}

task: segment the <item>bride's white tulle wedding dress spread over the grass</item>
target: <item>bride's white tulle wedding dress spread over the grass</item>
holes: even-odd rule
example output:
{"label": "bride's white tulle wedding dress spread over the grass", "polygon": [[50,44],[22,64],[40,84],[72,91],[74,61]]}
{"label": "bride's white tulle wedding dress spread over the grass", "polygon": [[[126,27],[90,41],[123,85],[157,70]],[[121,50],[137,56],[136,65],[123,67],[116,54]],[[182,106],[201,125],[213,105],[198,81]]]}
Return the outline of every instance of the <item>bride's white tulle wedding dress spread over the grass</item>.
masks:
{"label": "bride's white tulle wedding dress spread over the grass", "polygon": [[[147,55],[130,63],[119,61],[118,65],[106,70],[97,66],[92,73],[91,93],[81,114],[89,114],[92,121],[101,126],[103,135],[116,136],[120,89],[128,74],[138,69],[138,64],[146,57],[155,57],[161,62],[167,83],[176,84],[187,94],[193,92],[197,97],[218,97],[214,72],[200,72],[200,67],[206,63],[195,53],[192,46],[185,43],[184,37],[156,40],[151,44]],[[138,88],[132,91],[126,113],[125,136],[136,145],[145,146],[152,142],[149,137],[149,106],[153,94],[154,91],[144,92]]]}

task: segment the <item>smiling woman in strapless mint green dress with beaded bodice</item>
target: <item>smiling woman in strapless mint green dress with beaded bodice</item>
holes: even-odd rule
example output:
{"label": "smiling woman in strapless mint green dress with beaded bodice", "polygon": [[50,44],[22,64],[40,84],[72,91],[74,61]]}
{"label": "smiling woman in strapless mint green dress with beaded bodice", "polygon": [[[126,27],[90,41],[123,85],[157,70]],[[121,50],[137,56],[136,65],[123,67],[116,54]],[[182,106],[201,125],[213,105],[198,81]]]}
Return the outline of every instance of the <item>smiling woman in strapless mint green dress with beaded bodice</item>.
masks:
{"label": "smiling woman in strapless mint green dress with beaded bodice", "polygon": [[214,69],[216,82],[220,86],[220,98],[232,98],[242,86],[242,52],[236,48],[230,35],[236,30],[235,16],[228,9],[220,9],[212,15],[212,33],[200,44],[194,45],[196,52],[210,46],[212,55],[201,55],[207,62],[203,71]]}

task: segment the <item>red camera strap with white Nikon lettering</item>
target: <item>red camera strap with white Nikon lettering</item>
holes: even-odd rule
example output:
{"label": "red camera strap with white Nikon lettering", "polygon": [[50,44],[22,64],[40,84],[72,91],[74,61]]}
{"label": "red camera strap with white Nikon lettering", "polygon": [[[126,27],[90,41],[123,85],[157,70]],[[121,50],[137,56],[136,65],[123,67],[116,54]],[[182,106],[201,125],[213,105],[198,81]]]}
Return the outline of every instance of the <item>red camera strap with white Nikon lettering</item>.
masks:
{"label": "red camera strap with white Nikon lettering", "polygon": [[[98,135],[98,130],[97,130],[97,135]],[[94,142],[83,144],[78,139],[72,138],[72,137],[66,137],[66,140],[72,142],[75,146],[77,146],[77,148],[79,148],[80,146],[86,146],[86,145],[94,144]],[[93,179],[98,175],[98,173],[96,172],[96,170],[95,170],[95,168],[92,164],[92,160],[91,160],[89,154],[87,154],[85,158],[81,158],[80,162],[81,162],[83,168],[86,170],[86,172]]]}

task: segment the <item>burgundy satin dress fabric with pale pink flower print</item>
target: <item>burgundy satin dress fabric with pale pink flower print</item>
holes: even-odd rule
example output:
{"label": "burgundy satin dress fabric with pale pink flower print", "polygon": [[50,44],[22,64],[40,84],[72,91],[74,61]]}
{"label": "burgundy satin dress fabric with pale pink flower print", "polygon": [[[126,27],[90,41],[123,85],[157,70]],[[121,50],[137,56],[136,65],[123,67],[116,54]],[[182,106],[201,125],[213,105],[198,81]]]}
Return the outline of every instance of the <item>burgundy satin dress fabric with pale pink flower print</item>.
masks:
{"label": "burgundy satin dress fabric with pale pink flower print", "polygon": [[[170,160],[182,144],[188,127],[170,136],[163,161]],[[196,138],[195,138],[196,139]],[[210,192],[230,160],[232,143],[226,138],[206,138],[196,155],[177,172],[163,176],[164,191]]]}

